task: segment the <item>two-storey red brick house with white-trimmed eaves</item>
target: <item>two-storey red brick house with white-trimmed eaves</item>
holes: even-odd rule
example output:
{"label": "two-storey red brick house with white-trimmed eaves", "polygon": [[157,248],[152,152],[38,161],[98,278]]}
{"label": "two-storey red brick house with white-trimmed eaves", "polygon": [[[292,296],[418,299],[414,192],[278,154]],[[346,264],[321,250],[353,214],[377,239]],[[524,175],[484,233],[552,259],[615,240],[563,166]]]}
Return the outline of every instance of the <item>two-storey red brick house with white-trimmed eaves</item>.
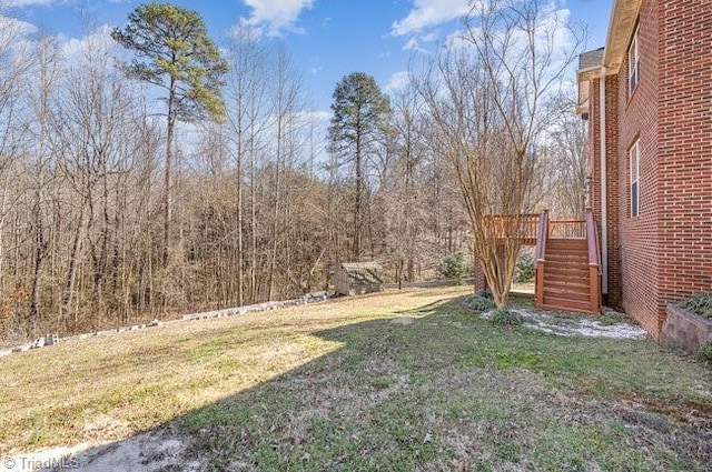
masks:
{"label": "two-storey red brick house with white-trimmed eaves", "polygon": [[614,0],[577,81],[602,292],[659,338],[669,302],[712,292],[712,0]]}

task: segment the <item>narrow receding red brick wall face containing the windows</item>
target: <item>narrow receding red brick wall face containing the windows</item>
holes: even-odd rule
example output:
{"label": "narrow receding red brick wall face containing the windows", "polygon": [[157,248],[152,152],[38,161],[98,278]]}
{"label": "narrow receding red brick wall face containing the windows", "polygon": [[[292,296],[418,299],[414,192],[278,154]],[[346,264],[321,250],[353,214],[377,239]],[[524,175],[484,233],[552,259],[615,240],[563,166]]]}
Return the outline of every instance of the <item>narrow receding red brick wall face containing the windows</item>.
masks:
{"label": "narrow receding red brick wall face containing the windows", "polygon": [[[657,337],[664,303],[659,281],[659,159],[657,159],[657,1],[643,1],[639,19],[640,82],[629,96],[629,63],[624,58],[617,82],[617,205],[621,304],[651,334]],[[612,116],[609,116],[613,118]],[[616,128],[611,123],[609,128]],[[641,208],[631,218],[631,145],[640,139]]]}

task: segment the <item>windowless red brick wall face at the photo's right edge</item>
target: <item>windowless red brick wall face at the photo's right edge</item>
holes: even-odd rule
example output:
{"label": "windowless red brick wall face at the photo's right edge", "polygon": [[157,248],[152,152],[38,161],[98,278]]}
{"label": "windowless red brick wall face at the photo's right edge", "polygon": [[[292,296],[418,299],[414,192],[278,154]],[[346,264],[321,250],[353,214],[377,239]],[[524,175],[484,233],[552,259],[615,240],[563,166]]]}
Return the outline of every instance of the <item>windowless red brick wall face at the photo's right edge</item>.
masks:
{"label": "windowless red brick wall face at the photo's right edge", "polygon": [[712,292],[712,0],[660,0],[660,291],[669,302]]}

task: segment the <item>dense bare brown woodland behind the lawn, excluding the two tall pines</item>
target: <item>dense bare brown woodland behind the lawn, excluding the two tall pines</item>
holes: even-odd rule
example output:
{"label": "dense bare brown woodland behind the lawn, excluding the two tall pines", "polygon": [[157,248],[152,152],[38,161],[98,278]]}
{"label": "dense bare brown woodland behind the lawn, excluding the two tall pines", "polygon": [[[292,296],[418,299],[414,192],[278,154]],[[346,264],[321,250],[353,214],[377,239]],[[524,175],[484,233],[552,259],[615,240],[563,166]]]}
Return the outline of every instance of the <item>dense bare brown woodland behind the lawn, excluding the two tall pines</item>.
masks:
{"label": "dense bare brown woodland behind the lawn, excluding the two tall pines", "polygon": [[[177,120],[168,140],[165,96],[120,67],[131,54],[110,30],[70,48],[3,21],[2,339],[291,298],[353,259],[418,280],[472,253],[417,83],[390,97],[370,83],[383,107],[356,160],[350,134],[309,107],[285,44],[236,31],[224,113]],[[576,215],[585,128],[571,96],[556,103],[542,204]]]}

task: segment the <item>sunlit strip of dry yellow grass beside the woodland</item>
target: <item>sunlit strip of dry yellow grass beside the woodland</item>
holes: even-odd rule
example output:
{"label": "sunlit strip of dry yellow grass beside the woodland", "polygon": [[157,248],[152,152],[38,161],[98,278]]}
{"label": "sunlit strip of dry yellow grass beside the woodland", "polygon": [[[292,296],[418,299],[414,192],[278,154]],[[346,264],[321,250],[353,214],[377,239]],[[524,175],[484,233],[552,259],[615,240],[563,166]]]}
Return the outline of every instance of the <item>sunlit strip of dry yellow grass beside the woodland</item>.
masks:
{"label": "sunlit strip of dry yellow grass beside the woodland", "polygon": [[126,438],[288,372],[340,343],[316,331],[465,293],[390,293],[159,329],[0,359],[0,456]]}

